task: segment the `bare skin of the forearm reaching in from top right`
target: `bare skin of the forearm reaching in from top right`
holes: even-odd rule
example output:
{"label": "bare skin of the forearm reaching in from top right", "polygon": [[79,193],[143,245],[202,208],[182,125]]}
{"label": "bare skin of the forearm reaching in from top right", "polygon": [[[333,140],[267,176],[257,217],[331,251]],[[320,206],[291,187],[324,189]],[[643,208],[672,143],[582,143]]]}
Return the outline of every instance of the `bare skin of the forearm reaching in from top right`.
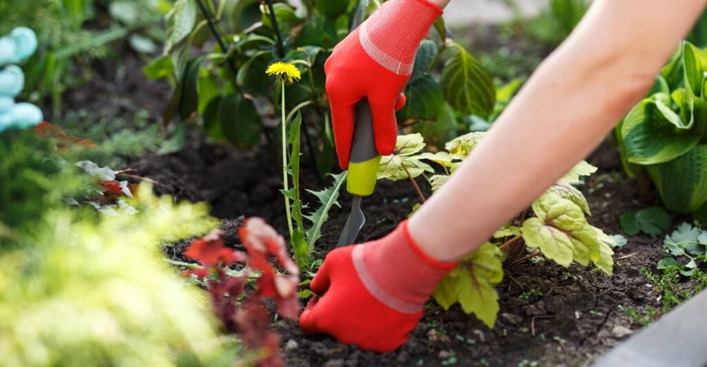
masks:
{"label": "bare skin of the forearm reaching in from top right", "polygon": [[703,4],[685,1],[676,11],[660,0],[597,0],[412,217],[411,236],[423,251],[438,260],[463,257],[588,155],[650,88]]}

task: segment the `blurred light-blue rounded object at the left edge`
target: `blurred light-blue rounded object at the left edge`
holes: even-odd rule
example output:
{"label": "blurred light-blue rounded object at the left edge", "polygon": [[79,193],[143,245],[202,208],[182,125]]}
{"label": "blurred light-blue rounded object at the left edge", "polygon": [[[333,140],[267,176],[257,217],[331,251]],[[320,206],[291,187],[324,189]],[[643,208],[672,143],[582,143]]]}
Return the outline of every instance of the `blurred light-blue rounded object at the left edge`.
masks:
{"label": "blurred light-blue rounded object at the left edge", "polygon": [[44,119],[42,110],[34,104],[15,102],[25,86],[25,74],[13,64],[29,59],[36,50],[37,36],[30,28],[15,28],[0,37],[0,133],[8,128],[35,126]]}

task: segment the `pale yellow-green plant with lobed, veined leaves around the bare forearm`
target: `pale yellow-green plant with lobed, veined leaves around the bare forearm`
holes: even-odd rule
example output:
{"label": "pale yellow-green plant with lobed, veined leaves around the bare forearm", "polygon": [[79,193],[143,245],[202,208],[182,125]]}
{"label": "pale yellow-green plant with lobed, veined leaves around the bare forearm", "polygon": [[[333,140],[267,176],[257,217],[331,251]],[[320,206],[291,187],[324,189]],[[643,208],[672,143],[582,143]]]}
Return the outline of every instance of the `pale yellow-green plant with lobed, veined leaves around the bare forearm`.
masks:
{"label": "pale yellow-green plant with lobed, veined leaves around the bare forearm", "polygon": [[[445,152],[422,152],[422,136],[399,136],[393,155],[380,162],[380,179],[410,179],[423,176],[433,191],[453,174],[483,132],[468,133],[451,140]],[[438,164],[441,169],[435,169]],[[573,263],[594,264],[612,275],[614,239],[587,221],[590,208],[584,195],[573,186],[596,167],[580,162],[549,188],[531,207],[498,229],[493,238],[460,261],[443,279],[433,294],[445,309],[460,303],[462,309],[493,327],[498,313],[496,284],[503,279],[503,268],[518,265],[530,258],[545,258],[569,267]]]}

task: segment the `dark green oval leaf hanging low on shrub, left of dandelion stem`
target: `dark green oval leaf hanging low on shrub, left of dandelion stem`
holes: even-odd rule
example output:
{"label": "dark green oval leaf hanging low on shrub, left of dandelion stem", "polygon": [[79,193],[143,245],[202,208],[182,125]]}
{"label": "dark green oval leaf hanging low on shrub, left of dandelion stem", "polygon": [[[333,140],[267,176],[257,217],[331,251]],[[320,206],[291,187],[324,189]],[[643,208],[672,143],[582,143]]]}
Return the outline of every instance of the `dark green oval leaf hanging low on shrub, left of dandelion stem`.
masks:
{"label": "dark green oval leaf hanging low on shrub, left of dandelion stem", "polygon": [[221,130],[230,143],[252,146],[260,141],[262,120],[252,100],[234,93],[223,98],[220,108]]}

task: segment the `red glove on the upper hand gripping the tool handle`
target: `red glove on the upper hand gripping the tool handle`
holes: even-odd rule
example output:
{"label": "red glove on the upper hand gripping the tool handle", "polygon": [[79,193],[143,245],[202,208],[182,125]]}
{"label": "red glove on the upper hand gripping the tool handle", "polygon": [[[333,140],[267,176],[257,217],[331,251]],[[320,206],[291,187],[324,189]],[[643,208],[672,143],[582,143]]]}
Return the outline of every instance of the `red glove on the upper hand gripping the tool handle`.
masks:
{"label": "red glove on the upper hand gripping the tool handle", "polygon": [[441,15],[426,0],[389,0],[334,47],[324,69],[341,169],[349,167],[354,107],[364,97],[373,112],[375,148],[380,155],[392,153],[395,111],[405,104],[402,90],[420,41]]}

